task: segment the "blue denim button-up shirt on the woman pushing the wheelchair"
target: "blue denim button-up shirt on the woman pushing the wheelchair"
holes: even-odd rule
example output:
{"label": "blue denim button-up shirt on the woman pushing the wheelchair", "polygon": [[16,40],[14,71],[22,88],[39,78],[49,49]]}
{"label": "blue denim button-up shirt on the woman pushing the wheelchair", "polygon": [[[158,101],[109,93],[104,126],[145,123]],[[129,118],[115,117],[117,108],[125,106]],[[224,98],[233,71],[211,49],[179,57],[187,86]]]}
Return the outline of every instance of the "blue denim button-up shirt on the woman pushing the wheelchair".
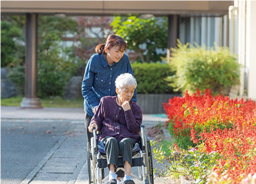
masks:
{"label": "blue denim button-up shirt on the woman pushing the wheelchair", "polygon": [[[94,54],[90,58],[82,80],[83,105],[90,116],[94,115],[92,109],[99,105],[102,97],[117,95],[115,80],[123,73],[133,75],[129,58],[125,54],[119,62],[114,62],[111,66],[103,54]],[[137,102],[136,91],[132,100]]]}

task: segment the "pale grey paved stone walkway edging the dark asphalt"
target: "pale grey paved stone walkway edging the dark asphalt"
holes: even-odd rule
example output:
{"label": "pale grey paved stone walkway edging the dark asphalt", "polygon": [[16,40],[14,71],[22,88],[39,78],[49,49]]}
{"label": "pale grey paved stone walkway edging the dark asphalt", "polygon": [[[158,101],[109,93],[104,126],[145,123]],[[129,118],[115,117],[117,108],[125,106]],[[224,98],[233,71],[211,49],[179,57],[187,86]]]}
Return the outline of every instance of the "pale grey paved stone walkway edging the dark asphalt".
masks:
{"label": "pale grey paved stone walkway edging the dark asphalt", "polygon": [[[49,119],[70,120],[72,128],[56,143],[40,163],[22,181],[22,184],[78,184],[88,183],[86,134],[83,124],[84,112],[80,108],[24,109],[1,106],[1,119]],[[143,124],[151,127],[167,119],[143,114]],[[72,136],[70,133],[72,132]],[[77,146],[79,145],[79,146]],[[136,183],[142,183],[137,181]],[[155,183],[165,183],[162,179]],[[168,183],[168,182],[166,182]]]}

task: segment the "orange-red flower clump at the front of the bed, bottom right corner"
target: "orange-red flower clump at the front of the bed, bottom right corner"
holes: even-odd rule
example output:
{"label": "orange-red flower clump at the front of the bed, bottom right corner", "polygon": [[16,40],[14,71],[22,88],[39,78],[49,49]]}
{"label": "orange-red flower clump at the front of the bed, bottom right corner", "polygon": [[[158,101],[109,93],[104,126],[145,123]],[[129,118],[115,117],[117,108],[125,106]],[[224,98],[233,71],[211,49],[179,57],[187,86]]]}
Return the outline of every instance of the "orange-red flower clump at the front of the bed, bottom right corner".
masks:
{"label": "orange-red flower clump at the front of the bed, bottom right corner", "polygon": [[241,183],[243,178],[256,173],[255,123],[200,134],[204,140],[204,151],[217,151],[222,156],[213,170],[214,174],[209,176],[209,183]]}

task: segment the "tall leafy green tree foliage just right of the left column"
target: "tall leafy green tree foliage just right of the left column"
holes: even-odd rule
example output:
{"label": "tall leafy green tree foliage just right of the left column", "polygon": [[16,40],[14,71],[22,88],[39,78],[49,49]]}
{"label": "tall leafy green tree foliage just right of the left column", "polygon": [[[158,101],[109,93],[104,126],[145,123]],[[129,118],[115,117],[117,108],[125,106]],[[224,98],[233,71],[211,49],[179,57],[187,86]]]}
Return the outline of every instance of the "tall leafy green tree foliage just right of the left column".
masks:
{"label": "tall leafy green tree foliage just right of the left column", "polygon": [[38,26],[38,97],[62,96],[63,88],[76,70],[74,59],[61,56],[64,33],[73,32],[76,22],[54,16],[40,16]]}

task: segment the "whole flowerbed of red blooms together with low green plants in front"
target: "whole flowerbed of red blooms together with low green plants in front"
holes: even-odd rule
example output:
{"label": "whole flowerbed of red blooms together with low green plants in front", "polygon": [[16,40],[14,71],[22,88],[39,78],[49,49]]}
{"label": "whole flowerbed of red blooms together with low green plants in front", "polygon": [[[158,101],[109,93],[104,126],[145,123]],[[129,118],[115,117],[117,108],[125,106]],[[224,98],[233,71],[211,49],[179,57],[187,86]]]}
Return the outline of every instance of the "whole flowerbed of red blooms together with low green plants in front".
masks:
{"label": "whole flowerbed of red blooms together with low green plants in front", "polygon": [[255,183],[255,107],[252,100],[213,97],[208,89],[169,99],[165,125],[175,144],[169,151],[155,148],[155,157],[167,162],[166,173],[193,183]]}

